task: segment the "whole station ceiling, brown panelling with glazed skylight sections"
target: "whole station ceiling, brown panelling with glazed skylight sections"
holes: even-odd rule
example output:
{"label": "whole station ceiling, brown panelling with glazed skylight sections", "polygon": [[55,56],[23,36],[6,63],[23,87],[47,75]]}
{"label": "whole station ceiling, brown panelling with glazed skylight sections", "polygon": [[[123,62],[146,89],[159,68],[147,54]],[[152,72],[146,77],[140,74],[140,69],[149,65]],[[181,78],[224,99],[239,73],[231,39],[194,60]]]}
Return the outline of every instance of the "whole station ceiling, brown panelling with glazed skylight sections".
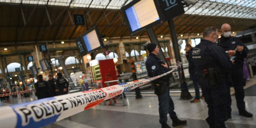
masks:
{"label": "whole station ceiling, brown panelling with glazed skylight sections", "polygon": [[[105,38],[129,37],[120,8],[132,0],[0,0],[0,46],[74,41],[97,26]],[[176,33],[197,34],[208,26],[229,23],[232,31],[256,27],[256,0],[195,0],[174,18]],[[84,14],[86,25],[75,25]],[[156,35],[170,34],[168,23],[154,26]],[[135,36],[145,36],[146,31]]]}

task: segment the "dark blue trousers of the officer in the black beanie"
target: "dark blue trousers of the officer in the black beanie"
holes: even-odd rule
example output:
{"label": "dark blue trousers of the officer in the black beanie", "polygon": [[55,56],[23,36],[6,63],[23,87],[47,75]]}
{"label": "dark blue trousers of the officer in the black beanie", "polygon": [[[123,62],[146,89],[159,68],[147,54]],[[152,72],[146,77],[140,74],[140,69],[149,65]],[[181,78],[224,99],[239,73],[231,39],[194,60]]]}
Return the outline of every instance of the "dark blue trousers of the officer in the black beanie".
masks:
{"label": "dark blue trousers of the officer in the black beanie", "polygon": [[169,87],[166,86],[166,91],[158,96],[158,102],[159,102],[159,116],[160,116],[160,124],[166,124],[167,123],[167,114],[169,113],[171,119],[176,119],[176,113],[174,112],[174,104],[172,101],[172,98],[169,94]]}

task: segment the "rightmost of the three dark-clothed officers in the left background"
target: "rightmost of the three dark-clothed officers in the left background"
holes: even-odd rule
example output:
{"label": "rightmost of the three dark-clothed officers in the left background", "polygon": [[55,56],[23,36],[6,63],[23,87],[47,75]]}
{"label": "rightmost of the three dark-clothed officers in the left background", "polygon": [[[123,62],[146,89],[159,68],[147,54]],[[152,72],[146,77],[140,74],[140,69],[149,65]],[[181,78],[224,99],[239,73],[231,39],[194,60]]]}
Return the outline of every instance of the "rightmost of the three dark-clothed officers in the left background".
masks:
{"label": "rightmost of the three dark-clothed officers in the left background", "polygon": [[56,88],[58,89],[56,95],[64,95],[64,94],[68,94],[68,86],[69,83],[68,81],[62,77],[62,73],[57,73],[57,80],[55,82]]}

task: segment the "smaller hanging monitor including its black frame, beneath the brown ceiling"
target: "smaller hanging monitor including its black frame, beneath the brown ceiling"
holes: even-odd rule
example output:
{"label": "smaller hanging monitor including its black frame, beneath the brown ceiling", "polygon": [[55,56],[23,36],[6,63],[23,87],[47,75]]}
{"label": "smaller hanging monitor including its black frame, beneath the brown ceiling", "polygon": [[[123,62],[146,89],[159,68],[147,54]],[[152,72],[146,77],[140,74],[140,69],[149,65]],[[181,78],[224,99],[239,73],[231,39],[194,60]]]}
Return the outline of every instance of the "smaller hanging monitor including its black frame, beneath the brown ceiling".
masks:
{"label": "smaller hanging monitor including its black frame, beneath the brown ceiling", "polygon": [[99,30],[96,26],[87,30],[81,35],[81,37],[87,54],[104,46]]}

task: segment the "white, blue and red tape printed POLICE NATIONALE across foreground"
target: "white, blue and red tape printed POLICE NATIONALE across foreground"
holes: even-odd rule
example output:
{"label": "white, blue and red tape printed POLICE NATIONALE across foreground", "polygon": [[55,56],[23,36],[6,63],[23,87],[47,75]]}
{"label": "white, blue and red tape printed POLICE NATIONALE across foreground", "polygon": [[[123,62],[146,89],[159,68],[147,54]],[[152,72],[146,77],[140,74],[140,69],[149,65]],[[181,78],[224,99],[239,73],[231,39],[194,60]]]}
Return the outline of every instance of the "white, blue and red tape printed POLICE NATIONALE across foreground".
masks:
{"label": "white, blue and red tape printed POLICE NATIONALE across foreground", "polygon": [[[177,66],[178,67],[178,66]],[[176,68],[177,68],[176,67]],[[171,71],[155,76],[116,84],[96,90],[76,92],[61,96],[44,98],[32,102],[0,107],[1,128],[38,128],[72,116],[96,106],[124,92],[143,86]]]}

